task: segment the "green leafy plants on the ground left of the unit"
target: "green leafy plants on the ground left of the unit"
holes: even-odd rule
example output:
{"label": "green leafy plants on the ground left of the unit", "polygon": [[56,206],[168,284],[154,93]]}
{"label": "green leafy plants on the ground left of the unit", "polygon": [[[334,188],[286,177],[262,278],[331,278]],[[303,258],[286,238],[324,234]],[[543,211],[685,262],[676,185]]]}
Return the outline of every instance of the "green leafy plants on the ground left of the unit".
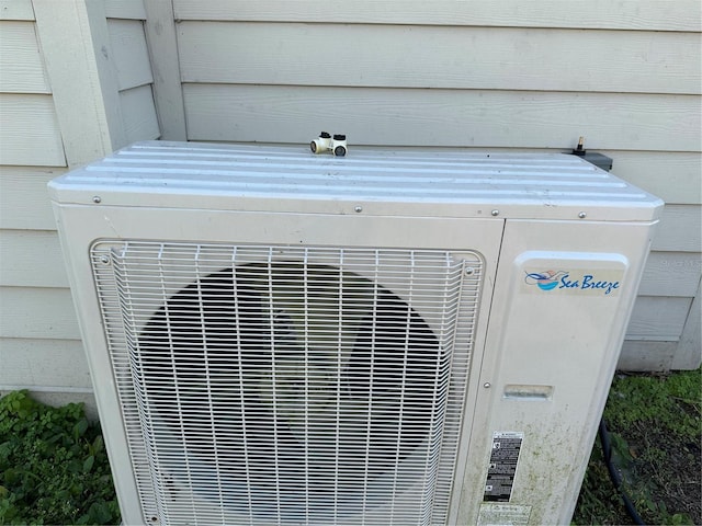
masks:
{"label": "green leafy plants on the ground left of the unit", "polygon": [[100,427],[82,405],[1,398],[0,525],[118,522]]}

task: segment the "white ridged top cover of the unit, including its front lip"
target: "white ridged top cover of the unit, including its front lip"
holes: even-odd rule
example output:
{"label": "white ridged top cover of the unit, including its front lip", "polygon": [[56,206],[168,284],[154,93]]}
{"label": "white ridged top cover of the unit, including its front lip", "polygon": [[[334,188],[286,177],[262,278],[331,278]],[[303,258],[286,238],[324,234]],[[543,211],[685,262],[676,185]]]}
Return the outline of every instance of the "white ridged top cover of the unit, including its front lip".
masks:
{"label": "white ridged top cover of the unit, including its front lip", "polygon": [[338,158],[305,145],[137,142],[49,187],[60,203],[305,214],[636,221],[663,206],[570,155],[350,148]]}

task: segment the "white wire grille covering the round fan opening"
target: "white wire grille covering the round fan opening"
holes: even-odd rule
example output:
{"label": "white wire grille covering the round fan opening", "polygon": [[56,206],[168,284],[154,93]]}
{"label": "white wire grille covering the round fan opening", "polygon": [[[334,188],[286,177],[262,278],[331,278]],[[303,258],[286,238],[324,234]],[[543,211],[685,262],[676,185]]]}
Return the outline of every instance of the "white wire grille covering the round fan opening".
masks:
{"label": "white wire grille covering the round fan opening", "polygon": [[476,254],[120,241],[92,260],[146,521],[443,521]]}

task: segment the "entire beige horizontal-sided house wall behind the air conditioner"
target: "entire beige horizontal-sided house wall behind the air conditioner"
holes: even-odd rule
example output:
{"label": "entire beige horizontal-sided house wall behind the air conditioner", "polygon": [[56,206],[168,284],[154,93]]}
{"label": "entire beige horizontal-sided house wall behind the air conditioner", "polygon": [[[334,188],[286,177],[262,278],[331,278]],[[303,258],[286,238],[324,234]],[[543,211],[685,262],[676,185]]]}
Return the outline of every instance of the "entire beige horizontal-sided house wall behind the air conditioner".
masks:
{"label": "entire beige horizontal-sided house wall behind the air conditioner", "polygon": [[0,390],[90,399],[45,185],[139,139],[562,151],[663,197],[620,366],[700,364],[697,0],[0,0]]}

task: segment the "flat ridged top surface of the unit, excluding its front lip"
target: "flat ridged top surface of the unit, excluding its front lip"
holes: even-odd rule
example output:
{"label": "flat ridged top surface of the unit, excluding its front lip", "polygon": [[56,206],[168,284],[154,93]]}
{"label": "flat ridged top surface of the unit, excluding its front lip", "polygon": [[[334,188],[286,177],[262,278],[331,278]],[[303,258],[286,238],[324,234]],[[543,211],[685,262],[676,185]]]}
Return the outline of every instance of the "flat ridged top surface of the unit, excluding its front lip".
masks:
{"label": "flat ridged top surface of the unit, excluding its front lip", "polygon": [[216,194],[239,198],[367,199],[656,207],[659,199],[576,156],[350,149],[313,155],[303,146],[137,142],[73,171],[69,187]]}

